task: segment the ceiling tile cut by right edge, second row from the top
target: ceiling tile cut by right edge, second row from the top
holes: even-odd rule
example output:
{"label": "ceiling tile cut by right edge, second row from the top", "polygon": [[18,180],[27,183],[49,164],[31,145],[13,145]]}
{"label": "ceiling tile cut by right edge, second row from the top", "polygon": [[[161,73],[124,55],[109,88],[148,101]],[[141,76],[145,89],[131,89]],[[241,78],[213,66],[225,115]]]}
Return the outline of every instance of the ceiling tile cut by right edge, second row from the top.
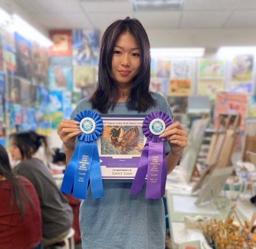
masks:
{"label": "ceiling tile cut by right edge, second row from the top", "polygon": [[225,27],[256,27],[255,11],[235,11]]}

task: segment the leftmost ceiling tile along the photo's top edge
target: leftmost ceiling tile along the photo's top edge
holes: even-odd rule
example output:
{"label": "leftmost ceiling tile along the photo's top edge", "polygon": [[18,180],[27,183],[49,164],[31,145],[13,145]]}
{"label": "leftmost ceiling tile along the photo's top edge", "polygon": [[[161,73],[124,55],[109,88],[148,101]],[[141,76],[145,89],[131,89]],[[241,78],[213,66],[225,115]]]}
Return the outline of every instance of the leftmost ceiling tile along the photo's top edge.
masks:
{"label": "leftmost ceiling tile along the photo's top edge", "polygon": [[15,0],[28,12],[82,12],[82,8],[76,0]]}

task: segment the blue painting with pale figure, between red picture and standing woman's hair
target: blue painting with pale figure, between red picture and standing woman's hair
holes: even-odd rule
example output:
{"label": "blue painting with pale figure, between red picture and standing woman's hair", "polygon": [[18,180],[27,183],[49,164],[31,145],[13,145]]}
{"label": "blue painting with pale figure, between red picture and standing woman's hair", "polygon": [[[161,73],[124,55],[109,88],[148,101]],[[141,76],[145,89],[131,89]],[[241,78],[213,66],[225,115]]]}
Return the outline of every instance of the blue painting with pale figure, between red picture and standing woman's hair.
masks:
{"label": "blue painting with pale figure, between red picture and standing woman's hair", "polygon": [[73,64],[98,65],[100,54],[100,31],[73,30]]}

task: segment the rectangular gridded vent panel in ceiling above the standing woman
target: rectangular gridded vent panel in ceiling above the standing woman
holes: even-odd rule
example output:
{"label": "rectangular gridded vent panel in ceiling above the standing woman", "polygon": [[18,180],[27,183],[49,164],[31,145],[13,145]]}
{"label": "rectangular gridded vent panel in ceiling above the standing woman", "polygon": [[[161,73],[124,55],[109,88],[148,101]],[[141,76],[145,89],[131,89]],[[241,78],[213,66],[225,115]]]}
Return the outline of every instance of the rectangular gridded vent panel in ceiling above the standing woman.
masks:
{"label": "rectangular gridded vent panel in ceiling above the standing woman", "polygon": [[131,0],[134,11],[180,11],[185,0]]}

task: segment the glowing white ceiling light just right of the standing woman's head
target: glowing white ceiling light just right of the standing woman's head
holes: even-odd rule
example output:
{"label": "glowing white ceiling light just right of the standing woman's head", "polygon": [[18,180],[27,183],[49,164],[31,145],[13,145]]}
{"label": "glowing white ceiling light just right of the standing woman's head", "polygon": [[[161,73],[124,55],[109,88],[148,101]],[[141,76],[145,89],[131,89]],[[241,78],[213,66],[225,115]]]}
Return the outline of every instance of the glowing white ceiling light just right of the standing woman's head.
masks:
{"label": "glowing white ceiling light just right of the standing woman's head", "polygon": [[153,58],[202,58],[204,56],[204,47],[191,48],[166,48],[166,49],[150,49],[151,57]]}

